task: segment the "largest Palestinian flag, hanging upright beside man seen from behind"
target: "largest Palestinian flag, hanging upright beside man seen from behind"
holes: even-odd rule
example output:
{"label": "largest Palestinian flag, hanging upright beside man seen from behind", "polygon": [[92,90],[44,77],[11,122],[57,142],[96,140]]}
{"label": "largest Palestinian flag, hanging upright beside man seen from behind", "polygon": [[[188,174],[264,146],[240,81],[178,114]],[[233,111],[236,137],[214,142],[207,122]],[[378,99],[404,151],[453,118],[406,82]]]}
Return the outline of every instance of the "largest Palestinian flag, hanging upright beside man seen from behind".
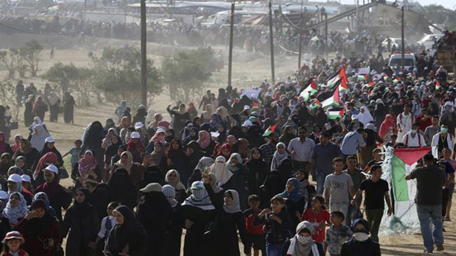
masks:
{"label": "largest Palestinian flag, hanging upright beside man seen from behind", "polygon": [[[413,222],[417,220],[415,209],[415,195],[417,193],[416,180],[405,180],[417,166],[417,161],[427,154],[431,147],[420,147],[414,149],[392,149],[389,147],[385,153],[385,160],[382,166],[384,176],[391,184],[394,195],[394,215],[401,219],[401,222]],[[384,178],[382,176],[382,178]]]}

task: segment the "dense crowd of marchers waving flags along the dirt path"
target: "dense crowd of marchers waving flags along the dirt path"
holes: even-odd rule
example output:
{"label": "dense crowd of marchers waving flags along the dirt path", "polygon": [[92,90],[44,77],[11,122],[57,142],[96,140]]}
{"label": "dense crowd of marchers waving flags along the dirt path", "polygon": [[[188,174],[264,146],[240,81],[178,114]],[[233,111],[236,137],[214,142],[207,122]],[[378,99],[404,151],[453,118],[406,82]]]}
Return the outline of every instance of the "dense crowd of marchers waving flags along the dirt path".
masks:
{"label": "dense crowd of marchers waving flags along the dirt path", "polygon": [[67,152],[46,120],[77,123],[72,95],[19,82],[29,134],[11,136],[0,106],[2,255],[380,255],[394,214],[383,152],[427,146],[405,179],[417,180],[424,252],[444,250],[455,80],[425,51],[404,70],[380,57],[317,56],[286,79],[166,112],[123,100]]}

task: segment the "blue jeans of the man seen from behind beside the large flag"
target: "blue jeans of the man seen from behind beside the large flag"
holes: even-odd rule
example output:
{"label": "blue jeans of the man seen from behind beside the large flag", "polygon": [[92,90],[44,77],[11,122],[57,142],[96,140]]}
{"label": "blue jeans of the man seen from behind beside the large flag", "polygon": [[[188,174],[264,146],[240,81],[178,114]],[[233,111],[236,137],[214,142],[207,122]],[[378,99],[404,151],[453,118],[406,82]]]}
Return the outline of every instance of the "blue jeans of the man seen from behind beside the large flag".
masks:
{"label": "blue jeans of the man seen from behind beside the large flag", "polygon": [[[424,248],[433,251],[434,243],[443,245],[442,206],[416,206]],[[434,224],[434,231],[431,231],[431,222]]]}

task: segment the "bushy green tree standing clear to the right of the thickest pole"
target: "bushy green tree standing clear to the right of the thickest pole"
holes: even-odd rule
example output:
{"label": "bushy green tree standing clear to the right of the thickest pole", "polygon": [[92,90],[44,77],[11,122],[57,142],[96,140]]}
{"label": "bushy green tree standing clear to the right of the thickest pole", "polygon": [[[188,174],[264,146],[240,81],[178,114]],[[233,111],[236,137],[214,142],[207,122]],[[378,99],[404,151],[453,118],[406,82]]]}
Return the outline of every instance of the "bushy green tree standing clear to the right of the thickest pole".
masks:
{"label": "bushy green tree standing clear to the right of the thickest pole", "polygon": [[214,67],[214,50],[210,47],[179,51],[164,59],[161,72],[171,100],[189,102],[201,95],[203,83],[208,81]]}

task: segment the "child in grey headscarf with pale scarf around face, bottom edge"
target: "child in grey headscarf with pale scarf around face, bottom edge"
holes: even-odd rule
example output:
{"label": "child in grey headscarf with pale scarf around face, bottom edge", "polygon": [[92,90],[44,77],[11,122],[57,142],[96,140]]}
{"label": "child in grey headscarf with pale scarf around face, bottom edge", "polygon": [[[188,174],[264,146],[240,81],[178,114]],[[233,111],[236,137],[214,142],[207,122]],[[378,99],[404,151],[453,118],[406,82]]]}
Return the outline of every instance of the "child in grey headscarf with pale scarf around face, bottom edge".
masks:
{"label": "child in grey headscarf with pale scarf around face, bottom edge", "polygon": [[315,228],[310,222],[304,221],[297,224],[296,234],[290,239],[286,256],[324,256],[321,243],[316,243],[312,239],[314,233]]}

